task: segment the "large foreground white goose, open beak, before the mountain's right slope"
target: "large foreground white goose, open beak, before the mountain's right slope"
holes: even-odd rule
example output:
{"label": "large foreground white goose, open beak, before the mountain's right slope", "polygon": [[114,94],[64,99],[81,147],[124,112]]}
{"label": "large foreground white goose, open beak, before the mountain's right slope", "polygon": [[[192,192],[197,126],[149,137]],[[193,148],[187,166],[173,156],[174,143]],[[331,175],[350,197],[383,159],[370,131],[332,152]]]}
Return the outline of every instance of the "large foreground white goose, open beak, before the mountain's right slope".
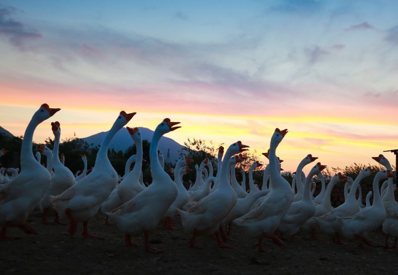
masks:
{"label": "large foreground white goose, open beak, before the mountain's right slope", "polygon": [[149,232],[164,217],[166,211],[177,198],[178,191],[176,184],[163,170],[158,161],[157,151],[160,138],[164,134],[180,128],[179,126],[174,127],[177,124],[179,122],[171,122],[170,119],[164,119],[153,133],[149,149],[152,184],[133,199],[120,206],[116,212],[106,213],[109,219],[114,221],[117,229],[124,233],[124,240],[127,246],[133,245],[131,236],[144,233],[146,251],[152,253],[161,252],[151,247]]}

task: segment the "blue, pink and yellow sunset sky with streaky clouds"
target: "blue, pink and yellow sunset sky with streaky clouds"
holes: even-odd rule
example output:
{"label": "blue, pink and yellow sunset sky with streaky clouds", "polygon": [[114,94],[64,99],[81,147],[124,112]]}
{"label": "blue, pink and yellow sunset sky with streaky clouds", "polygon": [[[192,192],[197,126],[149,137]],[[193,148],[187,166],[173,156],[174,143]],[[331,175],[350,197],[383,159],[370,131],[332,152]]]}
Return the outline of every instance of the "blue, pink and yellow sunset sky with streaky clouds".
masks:
{"label": "blue, pink and yellow sunset sky with streaky clouds", "polygon": [[259,153],[287,128],[285,170],[307,153],[376,164],[398,147],[397,14],[395,0],[0,0],[0,126],[23,135],[48,103],[61,138],[83,138],[125,110],[130,127],[169,117],[180,143]]}

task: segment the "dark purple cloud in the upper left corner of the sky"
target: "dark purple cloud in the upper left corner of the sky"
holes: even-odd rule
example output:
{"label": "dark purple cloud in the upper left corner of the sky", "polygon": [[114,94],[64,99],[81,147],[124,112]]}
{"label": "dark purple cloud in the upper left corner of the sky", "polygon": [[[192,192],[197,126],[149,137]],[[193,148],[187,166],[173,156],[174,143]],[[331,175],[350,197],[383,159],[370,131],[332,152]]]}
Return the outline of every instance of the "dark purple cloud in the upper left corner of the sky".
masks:
{"label": "dark purple cloud in the upper left corner of the sky", "polygon": [[25,41],[42,37],[36,29],[28,28],[22,22],[12,19],[10,16],[14,12],[14,7],[0,4],[0,35],[7,37],[19,48],[23,48]]}

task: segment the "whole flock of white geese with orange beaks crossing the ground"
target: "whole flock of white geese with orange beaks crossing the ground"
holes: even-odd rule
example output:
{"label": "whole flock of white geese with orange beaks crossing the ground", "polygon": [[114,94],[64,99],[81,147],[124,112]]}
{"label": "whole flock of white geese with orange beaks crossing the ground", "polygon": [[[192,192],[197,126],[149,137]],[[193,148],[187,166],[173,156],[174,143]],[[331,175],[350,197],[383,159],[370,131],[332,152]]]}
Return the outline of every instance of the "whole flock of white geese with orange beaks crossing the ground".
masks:
{"label": "whole flock of white geese with orange beaks crossing the ground", "polygon": [[[27,234],[36,234],[26,219],[34,209],[40,209],[44,224],[69,222],[68,233],[73,236],[77,224],[83,223],[83,236],[97,238],[88,230],[89,221],[99,211],[106,215],[106,224],[114,225],[123,235],[127,246],[134,246],[131,237],[143,234],[145,249],[159,253],[149,242],[149,234],[159,224],[167,229],[173,227],[173,218],[181,216],[185,231],[192,234],[190,247],[196,247],[199,236],[213,236],[221,248],[229,248],[225,243],[232,226],[242,229],[245,234],[259,240],[258,250],[265,251],[263,239],[271,239],[279,246],[285,246],[283,239],[295,239],[299,231],[308,232],[316,239],[318,234],[330,236],[335,244],[342,244],[342,238],[353,240],[362,247],[373,245],[368,233],[382,228],[385,236],[385,248],[389,247],[389,238],[394,238],[393,248],[398,238],[398,203],[395,200],[390,162],[383,156],[373,157],[385,166],[378,171],[373,181],[373,190],[366,196],[366,205],[362,203],[360,182],[374,174],[370,167],[352,178],[335,174],[326,185],[321,171],[326,167],[317,162],[308,175],[302,170],[314,162],[317,157],[306,155],[298,164],[292,185],[281,175],[283,161],[276,151],[287,130],[275,130],[271,137],[269,150],[263,153],[269,159],[264,169],[263,185],[260,189],[253,181],[253,171],[263,164],[255,161],[249,170],[249,189],[246,190],[245,171],[243,181],[239,183],[235,176],[235,166],[245,157],[241,152],[249,146],[241,141],[229,145],[224,151],[218,149],[217,174],[213,175],[211,161],[204,159],[196,164],[196,181],[187,188],[182,177],[191,171],[188,166],[193,160],[181,157],[174,169],[174,180],[164,170],[164,157],[158,150],[160,138],[175,131],[179,122],[164,119],[155,129],[150,143],[149,156],[152,183],[146,185],[142,180],[143,147],[138,128],[126,127],[136,146],[136,154],[126,163],[124,175],[119,177],[112,167],[107,151],[115,134],[121,130],[136,113],[121,111],[97,153],[95,166],[88,169],[87,157],[81,155],[84,169],[73,174],[65,165],[65,156],[59,154],[61,125],[51,123],[54,134],[54,148],[51,151],[45,145],[36,151],[36,158],[46,155],[45,167],[37,161],[32,152],[32,138],[36,127],[49,119],[60,109],[43,104],[30,120],[21,147],[21,171],[14,168],[0,169],[0,240],[16,239],[8,237],[6,229],[17,227]],[[7,153],[0,151],[0,156]],[[67,152],[66,152],[67,153]],[[80,160],[79,160],[80,161]],[[132,163],[134,167],[130,170]],[[88,173],[90,171],[90,173]],[[19,172],[19,173],[18,173]],[[317,176],[322,186],[320,193],[313,197],[315,190],[313,176]],[[379,182],[385,180],[379,189]],[[333,208],[330,195],[339,182],[345,184],[345,201]],[[360,196],[356,198],[359,189]],[[373,203],[370,197],[373,196]],[[55,219],[48,221],[48,215],[54,213]],[[228,232],[224,229],[228,227]]]}

